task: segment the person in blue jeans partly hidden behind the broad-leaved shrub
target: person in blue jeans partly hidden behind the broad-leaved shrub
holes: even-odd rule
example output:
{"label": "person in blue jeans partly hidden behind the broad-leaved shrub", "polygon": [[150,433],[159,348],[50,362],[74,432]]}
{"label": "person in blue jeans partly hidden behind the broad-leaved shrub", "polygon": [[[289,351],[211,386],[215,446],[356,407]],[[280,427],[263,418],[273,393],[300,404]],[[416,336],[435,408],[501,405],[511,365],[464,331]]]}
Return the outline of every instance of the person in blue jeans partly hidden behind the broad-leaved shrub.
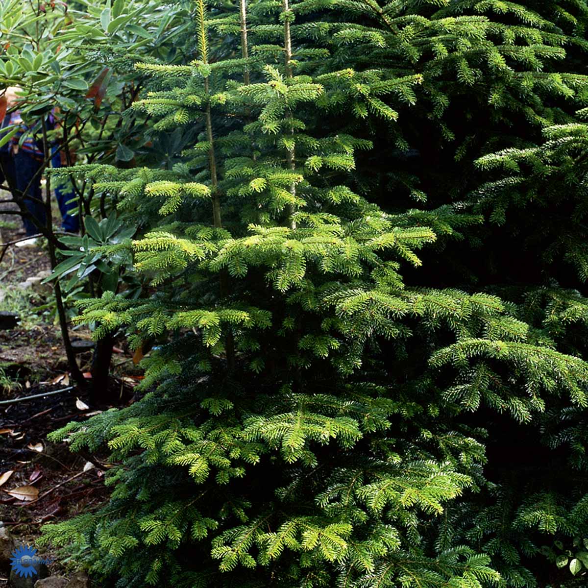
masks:
{"label": "person in blue jeans partly hidden behind the broad-leaved shrub", "polygon": [[[20,88],[11,87],[6,89],[6,98],[8,102],[8,109],[14,107],[18,103],[17,92]],[[21,141],[23,133],[28,131],[21,113],[16,110],[9,113],[4,119],[2,126],[17,125],[20,127],[19,131],[12,136],[5,149],[0,152],[0,164],[4,169],[4,175],[9,185],[14,186],[16,196],[24,198],[24,203],[27,211],[33,216],[38,223],[45,225],[45,204],[41,191],[41,173],[39,172],[44,161],[44,152],[42,143],[36,141],[32,134],[25,136]],[[48,128],[52,129],[55,125],[55,118],[51,114],[48,118]],[[20,144],[19,144],[20,143]],[[52,149],[52,165],[54,167],[61,167],[61,153],[55,146]],[[13,195],[14,196],[14,195]],[[75,202],[70,202],[74,198],[73,191],[64,189],[62,186],[57,186],[55,189],[55,196],[58,201],[59,211],[62,216],[62,228],[68,232],[78,232],[79,220],[77,217],[70,215],[70,212],[75,211]],[[34,236],[39,233],[35,223],[23,216],[22,218],[25,232],[27,236]],[[33,240],[31,240],[32,244]],[[26,245],[22,242],[22,245]]]}

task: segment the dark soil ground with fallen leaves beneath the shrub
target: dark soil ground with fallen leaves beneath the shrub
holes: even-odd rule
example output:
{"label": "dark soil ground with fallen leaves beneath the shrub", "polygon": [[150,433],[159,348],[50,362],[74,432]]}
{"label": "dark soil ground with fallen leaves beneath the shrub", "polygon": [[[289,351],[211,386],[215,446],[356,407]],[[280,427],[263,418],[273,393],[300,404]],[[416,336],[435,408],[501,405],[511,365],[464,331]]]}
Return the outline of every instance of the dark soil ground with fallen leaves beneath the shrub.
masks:
{"label": "dark soil ground with fallen leaves beneath the shrub", "polygon": [[[18,216],[3,215],[0,220],[0,243],[22,238]],[[0,255],[3,249],[0,246]],[[42,524],[89,512],[108,497],[100,467],[106,453],[75,455],[66,443],[46,439],[66,423],[112,406],[92,406],[88,392],[70,382],[51,287],[22,288],[27,278],[49,269],[42,244],[10,246],[0,261],[0,312],[19,317],[13,328],[0,329],[0,521],[16,540],[32,544]],[[91,339],[85,327],[74,327],[70,334],[73,340]],[[138,369],[125,343],[116,345],[120,348],[113,348],[111,383],[120,390],[121,406],[133,401]],[[78,361],[90,377],[92,351],[78,355]],[[6,403],[71,386],[55,395]],[[50,572],[61,573],[64,563],[59,556],[50,550],[44,553],[56,558]],[[0,577],[0,587],[6,580]]]}

